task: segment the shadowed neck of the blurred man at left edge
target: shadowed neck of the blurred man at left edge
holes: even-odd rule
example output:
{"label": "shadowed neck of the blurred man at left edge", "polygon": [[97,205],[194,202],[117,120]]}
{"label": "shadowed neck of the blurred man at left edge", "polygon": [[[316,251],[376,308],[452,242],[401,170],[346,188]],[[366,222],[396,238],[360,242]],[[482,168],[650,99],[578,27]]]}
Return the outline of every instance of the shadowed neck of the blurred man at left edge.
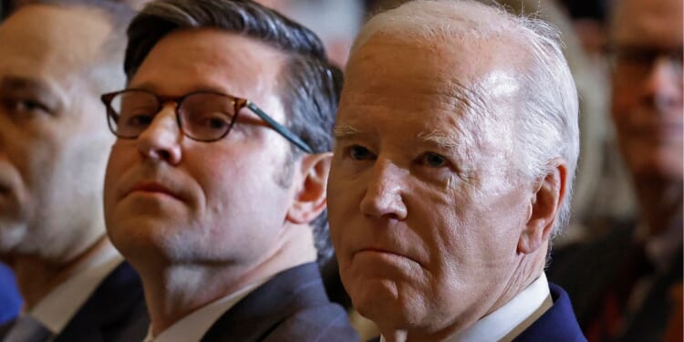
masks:
{"label": "shadowed neck of the blurred man at left edge", "polygon": [[24,298],[26,310],[31,310],[40,300],[74,275],[81,264],[104,249],[109,240],[102,235],[83,253],[64,263],[49,260],[36,255],[16,255],[10,261],[10,266],[16,275],[16,284]]}

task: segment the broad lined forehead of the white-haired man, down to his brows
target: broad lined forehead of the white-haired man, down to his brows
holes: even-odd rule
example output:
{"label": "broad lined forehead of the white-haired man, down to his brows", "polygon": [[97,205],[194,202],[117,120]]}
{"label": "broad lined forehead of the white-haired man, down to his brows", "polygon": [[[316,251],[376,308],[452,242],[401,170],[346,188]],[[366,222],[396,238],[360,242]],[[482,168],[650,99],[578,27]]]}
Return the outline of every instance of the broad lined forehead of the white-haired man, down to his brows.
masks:
{"label": "broad lined forehead of the white-haired man, down to his brows", "polygon": [[375,126],[407,123],[419,135],[435,127],[458,130],[454,126],[463,122],[480,130],[489,120],[512,119],[521,57],[496,39],[452,43],[370,37],[347,66],[339,121],[358,126],[381,113],[372,115]]}

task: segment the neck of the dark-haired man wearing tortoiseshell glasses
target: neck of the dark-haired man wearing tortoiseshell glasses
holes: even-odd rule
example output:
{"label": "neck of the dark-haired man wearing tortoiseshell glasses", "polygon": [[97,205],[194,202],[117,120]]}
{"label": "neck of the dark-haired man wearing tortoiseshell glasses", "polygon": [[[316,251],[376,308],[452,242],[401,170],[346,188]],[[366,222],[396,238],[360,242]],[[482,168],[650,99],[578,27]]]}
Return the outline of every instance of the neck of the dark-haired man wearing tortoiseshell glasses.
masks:
{"label": "neck of the dark-haired man wearing tortoiseshell glasses", "polygon": [[138,269],[150,312],[152,335],[192,312],[299,264],[316,261],[311,229],[288,226],[280,243],[252,264],[231,261],[131,263]]}

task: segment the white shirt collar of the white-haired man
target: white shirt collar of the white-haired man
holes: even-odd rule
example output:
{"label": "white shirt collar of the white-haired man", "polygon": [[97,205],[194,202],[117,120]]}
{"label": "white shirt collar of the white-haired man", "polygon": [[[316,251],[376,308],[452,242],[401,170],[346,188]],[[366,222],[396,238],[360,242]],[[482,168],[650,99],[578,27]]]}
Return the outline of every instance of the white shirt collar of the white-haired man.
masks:
{"label": "white shirt collar of the white-haired man", "polygon": [[[445,342],[511,341],[553,305],[549,283],[542,273],[508,303],[447,338]],[[380,341],[386,342],[385,337],[381,337]]]}

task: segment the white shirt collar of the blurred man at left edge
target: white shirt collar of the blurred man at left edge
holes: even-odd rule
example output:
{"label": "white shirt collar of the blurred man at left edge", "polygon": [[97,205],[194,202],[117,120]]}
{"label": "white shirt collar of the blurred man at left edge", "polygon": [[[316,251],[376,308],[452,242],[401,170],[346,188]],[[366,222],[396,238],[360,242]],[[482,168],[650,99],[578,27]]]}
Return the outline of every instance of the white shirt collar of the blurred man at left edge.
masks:
{"label": "white shirt collar of the blurred man at left edge", "polygon": [[78,265],[74,275],[41,299],[28,315],[58,335],[102,280],[122,262],[123,257],[114,246],[105,244],[96,254]]}

